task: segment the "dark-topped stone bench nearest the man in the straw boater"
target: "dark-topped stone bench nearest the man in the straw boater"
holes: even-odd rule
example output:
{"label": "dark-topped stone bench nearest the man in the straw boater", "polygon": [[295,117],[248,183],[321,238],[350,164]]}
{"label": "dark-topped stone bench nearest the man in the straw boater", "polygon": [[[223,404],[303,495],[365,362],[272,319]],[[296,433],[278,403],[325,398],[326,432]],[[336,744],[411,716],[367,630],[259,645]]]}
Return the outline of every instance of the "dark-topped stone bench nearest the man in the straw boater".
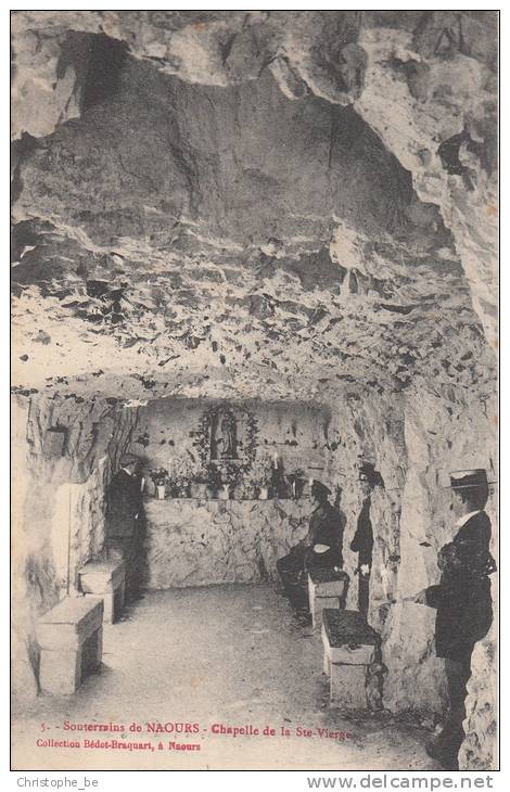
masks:
{"label": "dark-topped stone bench nearest the man in the straw boater", "polygon": [[330,701],[346,710],[367,708],[367,679],[380,637],[358,611],[322,613],[323,670],[330,678]]}

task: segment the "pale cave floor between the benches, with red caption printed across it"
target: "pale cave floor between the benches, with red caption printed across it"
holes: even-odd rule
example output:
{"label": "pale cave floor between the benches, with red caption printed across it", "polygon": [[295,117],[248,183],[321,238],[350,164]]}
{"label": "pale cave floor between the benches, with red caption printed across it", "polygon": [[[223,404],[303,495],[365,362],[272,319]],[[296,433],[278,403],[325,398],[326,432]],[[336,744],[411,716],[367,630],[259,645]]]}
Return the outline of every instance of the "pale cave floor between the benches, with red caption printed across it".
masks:
{"label": "pale cave floor between the benches, with red caption printed across it", "polygon": [[[104,627],[103,667],[72,698],[40,695],[16,715],[18,769],[438,769],[430,732],[390,715],[347,716],[328,703],[320,635],[299,625],[272,585],[145,592],[123,621]],[[124,724],[150,750],[37,748],[38,739],[106,740],[119,733],[64,730]],[[137,721],[142,731],[130,732]],[[152,721],[196,723],[199,733],[148,733]],[[212,733],[214,724],[266,726],[276,737]],[[281,737],[284,727],[290,737]],[[311,737],[297,736],[308,729]],[[345,740],[318,729],[350,732]],[[164,750],[157,750],[160,741]],[[169,750],[168,743],[200,750]],[[23,761],[21,757],[23,756]],[[18,758],[17,758],[18,757]]]}

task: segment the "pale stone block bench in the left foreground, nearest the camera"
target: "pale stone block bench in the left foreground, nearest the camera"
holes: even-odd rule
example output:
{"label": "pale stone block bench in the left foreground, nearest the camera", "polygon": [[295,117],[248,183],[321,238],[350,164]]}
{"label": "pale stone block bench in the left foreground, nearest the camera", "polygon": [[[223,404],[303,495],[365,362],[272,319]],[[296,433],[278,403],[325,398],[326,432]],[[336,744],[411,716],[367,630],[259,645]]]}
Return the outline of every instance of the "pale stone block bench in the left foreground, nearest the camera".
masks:
{"label": "pale stone block bench in the left foreground, nearest the camera", "polygon": [[66,597],[39,618],[37,640],[41,690],[66,695],[76,692],[85,676],[101,665],[102,599]]}

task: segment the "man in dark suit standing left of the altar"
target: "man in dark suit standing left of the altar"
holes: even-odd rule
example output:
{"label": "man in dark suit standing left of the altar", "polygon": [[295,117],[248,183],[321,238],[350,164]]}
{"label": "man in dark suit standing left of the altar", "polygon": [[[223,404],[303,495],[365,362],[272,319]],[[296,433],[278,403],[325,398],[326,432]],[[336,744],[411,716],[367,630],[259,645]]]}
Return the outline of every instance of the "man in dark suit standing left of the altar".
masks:
{"label": "man in dark suit standing left of the altar", "polygon": [[122,557],[126,565],[126,599],[138,593],[141,551],[142,488],[137,475],[139,459],[132,454],[120,457],[120,470],[107,491],[106,553]]}

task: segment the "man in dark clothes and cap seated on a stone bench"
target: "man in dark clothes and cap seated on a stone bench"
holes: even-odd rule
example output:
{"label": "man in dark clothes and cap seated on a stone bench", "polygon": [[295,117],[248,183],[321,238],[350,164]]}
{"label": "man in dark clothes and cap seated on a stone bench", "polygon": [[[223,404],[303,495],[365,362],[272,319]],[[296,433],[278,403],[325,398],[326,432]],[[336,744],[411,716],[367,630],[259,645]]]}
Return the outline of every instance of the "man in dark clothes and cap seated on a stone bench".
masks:
{"label": "man in dark clothes and cap seated on a stone bench", "polygon": [[314,481],[311,498],[316,509],[311,514],[307,536],[292,548],[289,555],[277,561],[277,570],[293,608],[308,608],[308,589],[305,573],[310,569],[342,567],[343,533],[341,513],[328,496],[331,490],[321,482]]}

